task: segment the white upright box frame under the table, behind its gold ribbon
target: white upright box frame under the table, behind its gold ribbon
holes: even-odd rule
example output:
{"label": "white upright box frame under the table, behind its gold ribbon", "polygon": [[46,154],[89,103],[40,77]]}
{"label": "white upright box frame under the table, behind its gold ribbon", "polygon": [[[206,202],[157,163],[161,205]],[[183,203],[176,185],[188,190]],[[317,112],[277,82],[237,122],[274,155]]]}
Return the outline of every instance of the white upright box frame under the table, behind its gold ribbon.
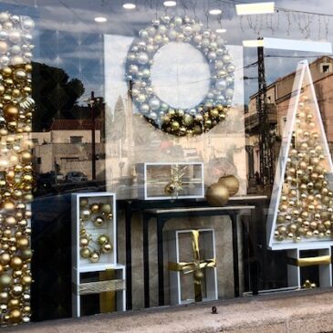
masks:
{"label": "white upright box frame under the table, behind its gold ribbon", "polygon": [[[201,260],[215,258],[215,235],[213,229],[197,229],[199,231],[199,249]],[[175,230],[168,233],[168,245],[169,245],[169,262],[181,263],[181,262],[193,262],[193,247],[192,247],[192,230]],[[186,237],[186,240],[183,237]],[[190,246],[190,250],[187,248],[186,255],[182,253],[183,245]],[[191,255],[189,254],[191,253]],[[184,256],[185,255],[185,256]],[[172,305],[175,304],[189,304],[194,300],[194,284],[191,282],[191,296],[183,297],[182,287],[182,275],[181,271],[169,270],[170,276],[170,298]],[[193,278],[193,273],[189,273],[188,276]],[[217,270],[216,267],[203,268],[203,302],[212,301],[218,298],[217,287]]]}

